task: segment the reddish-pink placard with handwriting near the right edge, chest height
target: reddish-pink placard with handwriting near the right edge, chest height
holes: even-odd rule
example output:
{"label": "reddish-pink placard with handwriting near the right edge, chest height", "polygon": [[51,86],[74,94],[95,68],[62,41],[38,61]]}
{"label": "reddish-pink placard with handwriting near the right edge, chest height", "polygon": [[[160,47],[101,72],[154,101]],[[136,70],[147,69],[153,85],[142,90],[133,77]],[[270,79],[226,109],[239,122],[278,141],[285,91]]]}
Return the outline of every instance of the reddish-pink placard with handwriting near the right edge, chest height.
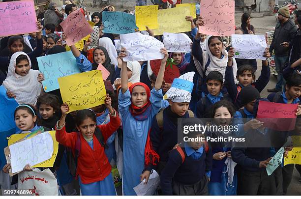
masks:
{"label": "reddish-pink placard with handwriting near the right edge, chest height", "polygon": [[264,126],[270,129],[291,131],[295,129],[297,107],[298,104],[260,101],[256,119],[264,122]]}

